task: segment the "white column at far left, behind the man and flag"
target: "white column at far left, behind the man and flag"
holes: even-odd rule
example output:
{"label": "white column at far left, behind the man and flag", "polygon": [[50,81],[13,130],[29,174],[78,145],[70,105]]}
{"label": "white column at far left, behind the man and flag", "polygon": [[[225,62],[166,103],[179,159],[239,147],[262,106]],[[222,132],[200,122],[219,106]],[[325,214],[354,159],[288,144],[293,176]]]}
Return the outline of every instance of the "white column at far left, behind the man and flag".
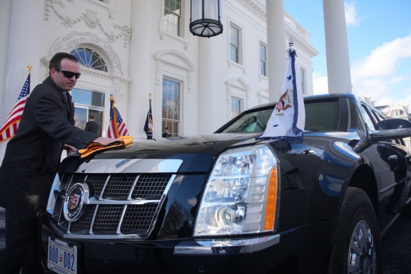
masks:
{"label": "white column at far left, behind the man and flag", "polygon": [[[28,74],[26,67],[28,65],[33,67],[30,91],[43,81],[43,75],[40,75],[40,58],[44,1],[12,0],[11,9],[9,1],[3,3],[2,0],[1,2],[1,15],[6,16],[6,18],[2,18],[2,21],[6,21],[6,26],[8,24],[7,17],[10,19],[9,30],[2,32],[6,43],[8,43],[7,57],[3,55],[3,51],[0,53],[0,58],[5,57],[6,62],[5,71],[0,78],[2,80],[0,82],[0,93],[3,97],[3,100],[0,101],[0,123],[3,125],[26,81]],[[9,12],[10,15],[5,14],[5,12]],[[4,30],[3,27],[1,29]],[[8,35],[5,35],[6,33]],[[4,47],[3,43],[1,47]],[[0,69],[3,70],[1,67]],[[6,143],[0,143],[0,162],[3,161]]]}

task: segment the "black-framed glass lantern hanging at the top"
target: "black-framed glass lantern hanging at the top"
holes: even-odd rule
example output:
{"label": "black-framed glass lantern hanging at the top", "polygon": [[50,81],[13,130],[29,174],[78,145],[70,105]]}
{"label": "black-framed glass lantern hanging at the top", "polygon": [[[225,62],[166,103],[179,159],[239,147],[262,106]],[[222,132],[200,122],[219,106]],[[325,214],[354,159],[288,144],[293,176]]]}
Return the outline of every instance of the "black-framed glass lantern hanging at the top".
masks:
{"label": "black-framed glass lantern hanging at the top", "polygon": [[222,33],[222,0],[191,0],[190,32],[201,37]]}

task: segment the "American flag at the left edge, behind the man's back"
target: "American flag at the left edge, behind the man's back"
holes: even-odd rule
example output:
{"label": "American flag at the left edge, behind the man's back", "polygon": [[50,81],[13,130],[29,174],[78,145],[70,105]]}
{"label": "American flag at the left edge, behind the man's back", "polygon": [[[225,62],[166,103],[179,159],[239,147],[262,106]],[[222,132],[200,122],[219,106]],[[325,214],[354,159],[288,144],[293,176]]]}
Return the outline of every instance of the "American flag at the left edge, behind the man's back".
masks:
{"label": "American flag at the left edge, behind the man's back", "polygon": [[27,80],[24,83],[22,92],[18,96],[17,102],[13,109],[10,111],[9,116],[7,116],[6,121],[0,128],[0,142],[9,140],[12,138],[17,131],[18,124],[22,120],[23,110],[26,105],[27,98],[30,95],[30,72],[27,76]]}

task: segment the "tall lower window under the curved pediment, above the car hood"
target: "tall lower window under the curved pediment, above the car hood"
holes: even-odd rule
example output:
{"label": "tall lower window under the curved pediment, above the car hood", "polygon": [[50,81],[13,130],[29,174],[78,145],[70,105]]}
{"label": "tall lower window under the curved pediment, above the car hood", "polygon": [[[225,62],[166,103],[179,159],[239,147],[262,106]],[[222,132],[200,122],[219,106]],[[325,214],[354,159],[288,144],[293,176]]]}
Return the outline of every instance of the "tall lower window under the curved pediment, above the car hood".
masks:
{"label": "tall lower window under the curved pediment, above the car hood", "polygon": [[180,133],[180,83],[167,78],[163,78],[162,133],[165,127],[171,127],[173,136]]}

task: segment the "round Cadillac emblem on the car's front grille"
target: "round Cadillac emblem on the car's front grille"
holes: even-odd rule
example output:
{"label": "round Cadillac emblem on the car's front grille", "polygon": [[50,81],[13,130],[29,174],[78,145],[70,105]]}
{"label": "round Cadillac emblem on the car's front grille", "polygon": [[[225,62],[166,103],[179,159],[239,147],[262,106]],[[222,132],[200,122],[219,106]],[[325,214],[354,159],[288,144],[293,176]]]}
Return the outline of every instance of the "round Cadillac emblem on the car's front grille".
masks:
{"label": "round Cadillac emblem on the car's front grille", "polygon": [[85,182],[76,183],[67,190],[63,214],[68,222],[71,223],[81,218],[88,203],[88,195],[88,185]]}

